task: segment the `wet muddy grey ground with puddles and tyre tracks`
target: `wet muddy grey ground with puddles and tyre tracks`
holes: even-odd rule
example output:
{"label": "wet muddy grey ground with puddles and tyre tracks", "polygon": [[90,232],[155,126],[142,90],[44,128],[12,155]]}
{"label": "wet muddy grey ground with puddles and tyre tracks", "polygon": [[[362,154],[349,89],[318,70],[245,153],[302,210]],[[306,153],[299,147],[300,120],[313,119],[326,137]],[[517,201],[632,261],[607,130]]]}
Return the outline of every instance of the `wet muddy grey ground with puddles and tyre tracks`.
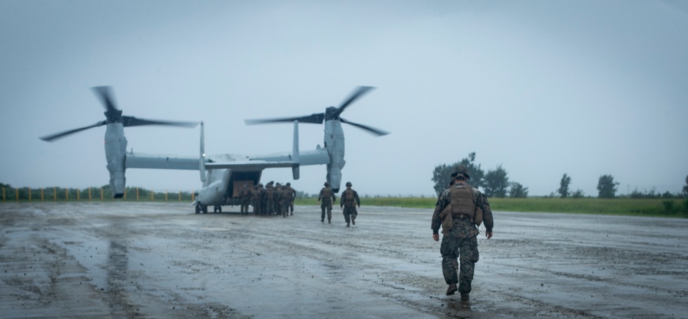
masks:
{"label": "wet muddy grey ground with puddles and tyre tracks", "polygon": [[688,318],[687,219],[495,212],[461,302],[430,210],[231,210],[0,203],[0,317]]}

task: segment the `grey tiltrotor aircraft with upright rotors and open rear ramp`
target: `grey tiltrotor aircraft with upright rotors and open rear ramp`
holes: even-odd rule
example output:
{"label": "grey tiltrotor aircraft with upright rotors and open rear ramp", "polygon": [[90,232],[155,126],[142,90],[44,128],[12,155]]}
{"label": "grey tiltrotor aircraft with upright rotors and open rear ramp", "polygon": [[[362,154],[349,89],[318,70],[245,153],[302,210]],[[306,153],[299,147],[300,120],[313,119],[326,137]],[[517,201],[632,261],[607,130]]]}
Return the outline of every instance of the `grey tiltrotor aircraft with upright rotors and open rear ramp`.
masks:
{"label": "grey tiltrotor aircraft with upright rotors and open rear ramp", "polygon": [[[350,122],[340,117],[341,113],[361,98],[373,87],[358,87],[345,99],[339,107],[327,107],[325,113],[295,118],[270,118],[262,120],[245,120],[246,124],[264,124],[274,122],[294,123],[294,143],[291,153],[277,153],[272,155],[255,155],[237,157],[235,155],[217,155],[206,157],[204,151],[203,122],[201,122],[201,140],[199,157],[143,155],[127,152],[127,138],[125,126],[142,125],[170,125],[195,127],[197,122],[173,122],[161,120],[144,120],[133,116],[122,115],[112,98],[110,87],[94,87],[93,90],[103,102],[106,120],[96,122],[79,129],[72,129],[61,133],[41,137],[41,140],[52,142],[67,135],[91,129],[97,126],[106,126],[105,130],[105,159],[107,170],[110,173],[110,189],[114,198],[121,198],[125,192],[125,170],[127,168],[160,168],[179,170],[199,170],[203,187],[195,193],[196,214],[207,213],[208,206],[213,206],[214,212],[222,212],[223,205],[238,205],[239,192],[246,185],[253,188],[259,183],[261,173],[265,168],[292,168],[292,176],[299,179],[299,166],[320,165],[327,166],[326,180],[330,183],[334,192],[339,191],[341,184],[341,170],[344,167],[344,133],[341,123],[351,124],[364,129],[374,135],[385,135],[388,132],[375,129],[371,126]],[[299,122],[323,124],[325,122],[324,147],[318,145],[314,150],[299,151]]]}

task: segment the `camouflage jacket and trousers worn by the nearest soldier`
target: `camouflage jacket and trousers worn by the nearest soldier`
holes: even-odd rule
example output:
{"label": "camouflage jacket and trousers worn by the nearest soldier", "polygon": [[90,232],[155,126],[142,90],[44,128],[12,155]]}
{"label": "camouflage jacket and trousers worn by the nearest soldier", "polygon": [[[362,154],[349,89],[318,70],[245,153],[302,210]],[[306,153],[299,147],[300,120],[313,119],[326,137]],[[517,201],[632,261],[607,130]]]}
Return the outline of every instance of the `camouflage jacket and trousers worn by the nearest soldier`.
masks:
{"label": "camouflage jacket and trousers worn by the nearest soldier", "polygon": [[[457,194],[462,192],[467,197],[472,197],[466,203],[465,201],[458,201],[458,203],[452,202],[452,197],[457,199]],[[452,196],[452,193],[455,196]],[[442,219],[440,214],[447,208],[447,206],[452,206],[450,211],[453,223],[451,228],[446,225],[442,225]],[[473,216],[469,211],[467,214],[458,213],[455,207],[463,206],[473,207]],[[480,255],[477,250],[477,234],[480,231],[475,225],[474,217],[477,209],[482,210],[482,218],[484,221],[486,232],[491,233],[494,226],[492,218],[492,210],[490,204],[487,201],[485,195],[479,190],[462,183],[454,184],[442,192],[440,198],[438,198],[437,204],[435,206],[435,211],[433,212],[432,225],[433,234],[438,234],[440,225],[447,228],[442,230],[442,244],[440,245],[440,253],[442,254],[442,274],[444,275],[444,281],[447,285],[459,284],[458,290],[462,293],[462,298],[464,294],[471,292],[471,281],[473,281],[473,270],[475,269],[475,263],[480,259]],[[464,210],[466,212],[466,210]],[[457,278],[456,259],[460,260],[459,275]],[[448,292],[449,294],[449,292]]]}

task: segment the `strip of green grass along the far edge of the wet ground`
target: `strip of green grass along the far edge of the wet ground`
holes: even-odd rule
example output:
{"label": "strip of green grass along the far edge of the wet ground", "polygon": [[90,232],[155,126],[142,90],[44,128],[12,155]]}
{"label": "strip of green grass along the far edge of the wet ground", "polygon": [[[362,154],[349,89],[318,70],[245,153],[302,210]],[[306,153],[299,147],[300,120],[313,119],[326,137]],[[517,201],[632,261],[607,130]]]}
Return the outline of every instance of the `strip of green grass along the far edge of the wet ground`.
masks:
{"label": "strip of green grass along the far edge of the wet ground", "polygon": [[[361,206],[392,206],[432,210],[435,198],[362,198]],[[511,212],[568,212],[627,216],[688,217],[687,199],[599,199],[599,198],[491,198],[492,210]],[[315,205],[316,199],[297,199],[297,205]],[[338,205],[338,203],[336,204]]]}

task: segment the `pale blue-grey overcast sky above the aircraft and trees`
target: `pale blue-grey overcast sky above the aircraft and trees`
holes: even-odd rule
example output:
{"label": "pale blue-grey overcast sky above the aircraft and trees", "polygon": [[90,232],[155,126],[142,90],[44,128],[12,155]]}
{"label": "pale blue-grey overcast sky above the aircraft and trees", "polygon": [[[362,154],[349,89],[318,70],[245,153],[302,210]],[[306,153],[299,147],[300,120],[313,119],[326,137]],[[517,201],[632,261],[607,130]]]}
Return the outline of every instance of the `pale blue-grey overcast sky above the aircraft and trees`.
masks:
{"label": "pale blue-grey overcast sky above the aircraft and trees", "polygon": [[[377,87],[343,118],[343,182],[367,195],[433,195],[432,171],[476,153],[530,195],[563,174],[597,195],[680,192],[688,175],[685,1],[0,1],[0,182],[108,183],[91,87],[125,115],[204,121],[206,153],[290,151],[292,124]],[[323,126],[301,124],[301,151]],[[128,150],[195,156],[200,130],[125,129]],[[264,170],[263,181],[292,181]],[[297,190],[318,192],[325,166]],[[127,186],[194,190],[191,170],[127,170]]]}

